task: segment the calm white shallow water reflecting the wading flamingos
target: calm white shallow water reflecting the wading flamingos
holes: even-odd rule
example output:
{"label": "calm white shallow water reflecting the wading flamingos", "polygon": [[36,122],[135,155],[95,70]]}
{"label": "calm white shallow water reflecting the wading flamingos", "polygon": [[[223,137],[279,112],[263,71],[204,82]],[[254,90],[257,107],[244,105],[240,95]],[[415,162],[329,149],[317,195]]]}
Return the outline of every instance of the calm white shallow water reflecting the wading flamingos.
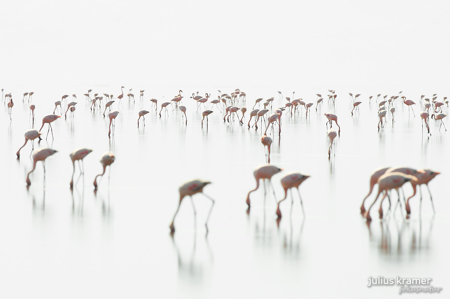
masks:
{"label": "calm white shallow water reflecting the wading flamingos", "polygon": [[[368,96],[380,92],[397,95],[396,90],[336,89],[336,107],[325,100],[317,112],[315,105],[311,107],[307,118],[304,110],[297,116],[283,115],[281,138],[272,136],[271,162],[285,169],[273,178],[277,199],[283,195],[279,180],[284,173],[299,171],[311,178],[300,188],[306,219],[294,193],[292,211],[288,198],[281,205],[284,217],[277,225],[273,194],[267,193],[264,205],[262,187],[252,193],[252,209],[246,212],[247,192],[255,186],[252,172],[265,161],[261,129],[248,129],[237,120],[224,123],[224,113],[216,108],[208,127],[202,128],[200,111],[204,109],[197,113],[196,103],[189,98],[199,90],[200,94],[210,92],[212,100],[217,97],[216,89],[230,94],[236,87],[180,86],[187,126],[180,112],[172,112],[171,107],[168,116],[161,118],[151,110],[150,98],[158,99],[159,112],[160,104],[173,98],[178,87],[157,91],[147,86],[125,87],[126,91],[133,87],[136,102],[129,103],[124,96],[123,107],[113,104],[113,110],[121,113],[109,139],[108,117],[103,118],[103,109],[91,112],[82,94],[91,88],[92,93],[117,96],[120,85],[65,86],[51,91],[2,86],[13,94],[15,103],[12,122],[6,105],[0,109],[4,142],[0,147],[2,297],[29,298],[44,293],[50,298],[397,296],[397,286],[367,287],[368,278],[378,276],[432,278],[432,286],[444,288],[434,296],[446,296],[450,280],[449,272],[444,271],[450,244],[446,153],[450,139],[443,127],[438,131],[440,122],[431,118],[432,136],[421,133],[419,104],[414,105],[414,117],[398,100],[396,122],[392,125],[389,113],[379,132],[378,104],[372,101],[369,105]],[[245,123],[256,98],[273,96],[274,109],[285,103],[276,89],[241,88],[247,93]],[[143,101],[139,101],[139,89],[147,89]],[[32,127],[28,103],[22,103],[22,94],[31,90],[35,92],[36,129],[42,117],[53,112],[53,103],[61,95],[77,94],[78,104],[73,120],[63,116],[52,124],[54,140],[50,134],[47,141],[44,136],[40,143],[35,142],[35,149],[51,147],[58,153],[45,163],[45,184],[38,163],[27,189],[31,144],[22,149],[20,161],[15,152],[24,142],[24,132]],[[348,92],[363,94],[364,103],[356,116],[350,115]],[[325,89],[311,89],[297,91],[295,98],[315,103],[316,93],[328,94]],[[420,93],[403,94],[419,103]],[[283,96],[292,98],[292,92]],[[445,94],[438,96],[441,99]],[[70,102],[71,97],[68,99]],[[66,108],[63,105],[63,113]],[[137,112],[142,109],[152,112],[146,116],[145,128],[138,128]],[[223,105],[220,109],[223,111]],[[336,156],[331,160],[324,112],[337,114],[341,126]],[[444,121],[450,129],[448,120]],[[42,132],[46,134],[46,130],[47,125]],[[94,151],[84,159],[85,176],[71,192],[69,153],[78,147]],[[116,161],[110,179],[105,175],[95,193],[92,182],[102,170],[99,159],[106,151],[114,152]],[[369,175],[385,165],[441,171],[430,183],[437,210],[434,218],[425,191],[421,218],[419,196],[415,196],[410,220],[403,221],[397,209],[395,218],[380,222],[376,204],[371,211],[374,221],[366,224],[359,207],[368,192]],[[78,173],[77,169],[75,178]],[[196,195],[197,230],[192,206],[185,200],[172,238],[168,226],[178,203],[178,187],[194,178],[212,182],[204,189],[216,200],[209,233],[206,236],[204,220],[210,201]],[[409,196],[412,188],[406,186],[405,193]],[[373,198],[369,197],[366,206]]]}

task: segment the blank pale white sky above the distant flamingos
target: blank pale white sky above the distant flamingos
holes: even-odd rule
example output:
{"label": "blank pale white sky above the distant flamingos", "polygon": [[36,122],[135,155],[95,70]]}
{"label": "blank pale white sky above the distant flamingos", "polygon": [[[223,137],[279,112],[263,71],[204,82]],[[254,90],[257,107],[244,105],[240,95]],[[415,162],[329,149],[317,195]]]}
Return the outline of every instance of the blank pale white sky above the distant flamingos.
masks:
{"label": "blank pale white sky above the distant flamingos", "polygon": [[448,1],[4,1],[1,7],[2,85],[442,87],[450,79]]}

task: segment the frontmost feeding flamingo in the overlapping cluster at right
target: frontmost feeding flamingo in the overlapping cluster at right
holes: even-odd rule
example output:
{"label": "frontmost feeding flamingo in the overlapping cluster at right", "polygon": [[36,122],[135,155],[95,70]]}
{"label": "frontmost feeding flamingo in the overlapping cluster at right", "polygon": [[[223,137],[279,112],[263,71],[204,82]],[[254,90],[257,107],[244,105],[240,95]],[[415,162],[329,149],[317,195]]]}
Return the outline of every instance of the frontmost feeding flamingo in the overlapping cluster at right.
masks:
{"label": "frontmost feeding flamingo in the overlapping cluster at right", "polygon": [[[386,173],[386,174],[383,174],[382,176],[380,176],[380,178],[377,181],[378,194],[377,194],[377,196],[375,196],[375,200],[372,203],[372,205],[370,205],[369,210],[367,210],[364,213],[364,217],[367,219],[367,221],[372,220],[370,218],[370,214],[369,214],[370,209],[377,201],[378,196],[381,194],[381,192],[383,192],[383,191],[385,192],[383,198],[381,199],[382,203],[383,203],[383,199],[386,196],[389,199],[389,202],[391,202],[391,198],[390,198],[389,194],[387,193],[387,191],[389,191],[391,189],[396,189],[397,193],[398,193],[398,188],[403,186],[403,184],[405,184],[406,182],[410,182],[411,180],[417,180],[417,179],[412,175],[403,174],[401,172],[391,172],[391,173]],[[400,198],[398,199],[398,201],[400,201]],[[380,210],[378,210],[378,212],[380,212],[380,219],[383,218],[383,211],[381,210],[381,205],[380,205]]]}

